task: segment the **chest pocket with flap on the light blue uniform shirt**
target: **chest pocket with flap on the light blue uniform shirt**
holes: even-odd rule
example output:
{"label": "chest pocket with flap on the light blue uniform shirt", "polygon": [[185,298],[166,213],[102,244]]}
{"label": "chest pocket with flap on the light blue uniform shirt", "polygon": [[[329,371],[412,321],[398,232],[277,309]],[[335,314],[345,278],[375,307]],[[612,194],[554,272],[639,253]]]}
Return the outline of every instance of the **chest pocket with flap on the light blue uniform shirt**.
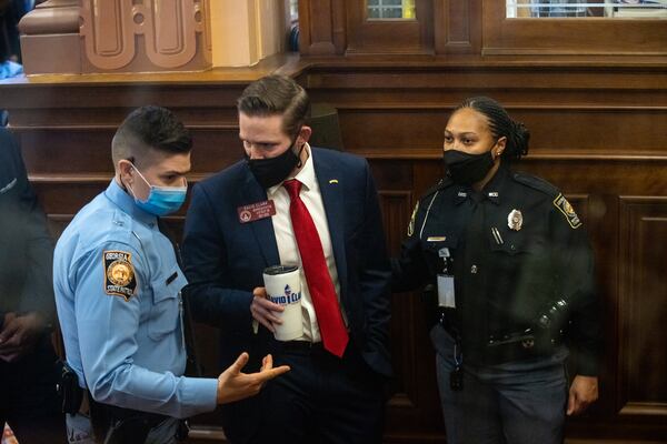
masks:
{"label": "chest pocket with flap on the light blue uniform shirt", "polygon": [[153,299],[150,307],[148,335],[161,340],[180,323],[180,291],[187,284],[180,270],[166,273],[151,283]]}

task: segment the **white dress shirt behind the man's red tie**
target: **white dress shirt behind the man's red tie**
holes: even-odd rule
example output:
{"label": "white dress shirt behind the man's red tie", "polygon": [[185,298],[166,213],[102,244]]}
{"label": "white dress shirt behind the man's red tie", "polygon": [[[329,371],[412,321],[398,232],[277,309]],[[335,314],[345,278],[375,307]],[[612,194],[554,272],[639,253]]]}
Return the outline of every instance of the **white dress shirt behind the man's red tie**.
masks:
{"label": "white dress shirt behind the man's red tie", "polygon": [[[308,152],[308,159],[303,164],[303,168],[293,178],[302,183],[300,198],[303,204],[308,209],[317,233],[319,234],[320,242],[322,243],[322,250],[325,252],[325,260],[327,261],[327,269],[329,275],[334,282],[336,289],[336,295],[340,304],[340,283],[338,282],[338,270],[336,269],[336,261],[334,259],[334,249],[331,246],[331,236],[329,234],[329,223],[327,221],[327,212],[322,202],[322,195],[320,193],[319,183],[315,175],[315,165],[312,164],[312,153],[310,145],[306,143],[303,147]],[[278,254],[280,255],[280,263],[282,265],[299,265],[299,274],[301,280],[301,312],[303,314],[303,335],[298,337],[300,341],[320,342],[321,335],[319,325],[317,322],[317,315],[315,314],[315,306],[312,305],[312,299],[308,291],[308,284],[306,282],[306,275],[303,274],[303,268],[301,266],[301,256],[299,254],[299,246],[297,245],[297,239],[295,238],[291,216],[289,214],[290,199],[289,194],[282,183],[271,186],[267,190],[268,199],[272,200],[276,204],[276,214],[272,216],[273,232],[276,234],[276,242],[278,244]],[[347,319],[345,311],[342,310],[342,319],[347,325]]]}

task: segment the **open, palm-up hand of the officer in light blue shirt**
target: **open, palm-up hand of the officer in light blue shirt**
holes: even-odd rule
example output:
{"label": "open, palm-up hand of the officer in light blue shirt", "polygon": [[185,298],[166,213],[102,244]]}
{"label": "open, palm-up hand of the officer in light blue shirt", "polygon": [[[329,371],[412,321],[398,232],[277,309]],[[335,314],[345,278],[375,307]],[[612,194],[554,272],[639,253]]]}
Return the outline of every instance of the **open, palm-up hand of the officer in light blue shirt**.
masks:
{"label": "open, palm-up hand of the officer in light blue shirt", "polygon": [[261,370],[258,373],[241,373],[241,370],[248,363],[248,353],[241,353],[236,362],[218,376],[218,404],[227,404],[255,396],[267,381],[289,372],[287,365],[273,369],[273,359],[269,354],[262,360]]}

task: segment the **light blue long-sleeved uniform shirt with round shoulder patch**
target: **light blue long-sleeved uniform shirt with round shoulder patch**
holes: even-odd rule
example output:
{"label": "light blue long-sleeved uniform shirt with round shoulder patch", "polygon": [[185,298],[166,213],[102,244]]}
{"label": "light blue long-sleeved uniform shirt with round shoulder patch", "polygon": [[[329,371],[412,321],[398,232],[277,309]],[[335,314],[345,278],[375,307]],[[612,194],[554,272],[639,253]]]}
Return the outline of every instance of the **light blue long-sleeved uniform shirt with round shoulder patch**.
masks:
{"label": "light blue long-sleeved uniform shirt with round shoulder patch", "polygon": [[186,284],[156,216],[116,180],[74,216],[53,286],[67,361],[96,401],[173,417],[216,407],[217,380],[182,376]]}

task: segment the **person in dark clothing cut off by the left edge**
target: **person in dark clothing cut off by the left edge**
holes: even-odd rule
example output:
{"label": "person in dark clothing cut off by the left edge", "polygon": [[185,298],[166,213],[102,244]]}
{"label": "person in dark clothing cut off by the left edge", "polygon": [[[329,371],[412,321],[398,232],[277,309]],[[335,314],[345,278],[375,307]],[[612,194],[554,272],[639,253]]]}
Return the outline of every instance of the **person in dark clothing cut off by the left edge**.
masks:
{"label": "person in dark clothing cut off by the left edge", "polygon": [[50,334],[56,317],[53,242],[19,147],[4,128],[0,215],[0,432],[7,422],[21,444],[63,443],[59,366]]}

